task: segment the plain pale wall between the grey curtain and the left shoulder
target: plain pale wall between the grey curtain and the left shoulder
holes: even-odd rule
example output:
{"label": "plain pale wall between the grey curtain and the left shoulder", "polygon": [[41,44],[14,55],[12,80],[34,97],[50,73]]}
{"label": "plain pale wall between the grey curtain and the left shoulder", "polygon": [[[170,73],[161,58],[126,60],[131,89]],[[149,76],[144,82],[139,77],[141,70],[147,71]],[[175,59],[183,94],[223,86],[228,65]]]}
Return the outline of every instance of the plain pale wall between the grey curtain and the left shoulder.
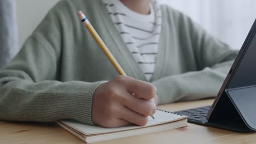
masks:
{"label": "plain pale wall between the grey curtain and the left shoulder", "polygon": [[[8,0],[4,0],[8,1]],[[59,0],[16,0],[19,29],[19,44],[37,27],[47,11]],[[97,0],[96,0],[97,1]]]}

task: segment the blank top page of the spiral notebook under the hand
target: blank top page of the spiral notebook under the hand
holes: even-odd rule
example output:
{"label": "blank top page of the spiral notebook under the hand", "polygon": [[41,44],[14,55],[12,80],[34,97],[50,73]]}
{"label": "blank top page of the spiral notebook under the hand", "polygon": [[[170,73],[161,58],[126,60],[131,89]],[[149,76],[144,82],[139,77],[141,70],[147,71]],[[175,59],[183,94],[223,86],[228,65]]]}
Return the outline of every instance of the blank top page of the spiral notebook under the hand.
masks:
{"label": "blank top page of the spiral notebook under the hand", "polygon": [[[153,125],[159,125],[164,123],[170,123],[174,121],[179,121],[181,119],[186,119],[187,116],[180,116],[175,115],[173,113],[168,113],[165,111],[158,110],[154,114],[155,119],[149,117],[148,123],[144,127],[150,127]],[[117,132],[117,131],[123,131],[123,130],[130,130],[130,129],[139,129],[143,127],[139,127],[137,125],[131,125],[126,127],[120,127],[120,128],[102,128],[98,126],[92,126],[92,125],[86,125],[82,124],[73,120],[63,120],[62,123],[65,123],[69,127],[79,131],[80,133],[84,135],[94,135],[94,134],[103,134],[103,133],[111,133],[111,132]]]}

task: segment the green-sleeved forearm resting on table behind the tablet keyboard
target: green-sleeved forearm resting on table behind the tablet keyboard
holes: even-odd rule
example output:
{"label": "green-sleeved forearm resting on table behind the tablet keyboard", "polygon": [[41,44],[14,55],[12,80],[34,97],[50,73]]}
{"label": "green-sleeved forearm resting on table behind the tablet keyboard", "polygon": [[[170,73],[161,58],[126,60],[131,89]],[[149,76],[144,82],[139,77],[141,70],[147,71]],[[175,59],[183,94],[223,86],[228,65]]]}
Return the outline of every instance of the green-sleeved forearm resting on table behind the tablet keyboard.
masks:
{"label": "green-sleeved forearm resting on table behind the tablet keyboard", "polygon": [[153,85],[158,88],[159,104],[216,97],[232,63],[233,61],[223,62],[212,68],[154,81]]}

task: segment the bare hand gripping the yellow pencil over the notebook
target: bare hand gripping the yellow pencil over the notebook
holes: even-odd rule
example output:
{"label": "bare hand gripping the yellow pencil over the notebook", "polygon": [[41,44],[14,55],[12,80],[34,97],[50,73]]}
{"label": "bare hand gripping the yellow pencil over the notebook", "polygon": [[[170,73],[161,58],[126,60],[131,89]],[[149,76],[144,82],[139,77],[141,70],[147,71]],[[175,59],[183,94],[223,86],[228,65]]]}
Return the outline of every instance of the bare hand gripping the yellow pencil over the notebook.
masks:
{"label": "bare hand gripping the yellow pencil over the notebook", "polygon": [[[133,93],[136,95],[133,95]],[[100,85],[92,103],[92,121],[105,128],[144,126],[156,112],[156,88],[144,81],[118,76]]]}

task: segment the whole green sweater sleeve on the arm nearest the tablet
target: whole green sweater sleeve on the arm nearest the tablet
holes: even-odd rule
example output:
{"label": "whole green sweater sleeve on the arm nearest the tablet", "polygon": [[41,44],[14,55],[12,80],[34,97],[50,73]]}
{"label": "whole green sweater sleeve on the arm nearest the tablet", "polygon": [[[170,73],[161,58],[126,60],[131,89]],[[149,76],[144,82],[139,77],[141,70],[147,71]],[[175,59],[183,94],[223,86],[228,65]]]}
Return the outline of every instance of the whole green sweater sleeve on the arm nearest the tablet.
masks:
{"label": "whole green sweater sleeve on the arm nearest the tablet", "polygon": [[179,14],[176,20],[182,26],[179,43],[184,43],[184,39],[189,40],[197,71],[167,76],[152,82],[158,88],[159,104],[216,97],[237,51],[212,37],[189,17]]}

